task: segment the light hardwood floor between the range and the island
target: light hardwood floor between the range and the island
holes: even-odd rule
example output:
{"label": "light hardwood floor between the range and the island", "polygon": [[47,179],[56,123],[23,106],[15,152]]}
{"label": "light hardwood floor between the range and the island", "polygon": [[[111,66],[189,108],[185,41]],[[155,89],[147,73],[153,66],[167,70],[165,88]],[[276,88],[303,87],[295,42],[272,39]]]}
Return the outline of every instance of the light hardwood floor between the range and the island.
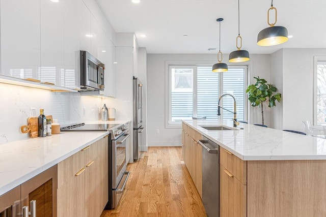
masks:
{"label": "light hardwood floor between the range and the island", "polygon": [[128,164],[127,190],[108,216],[206,216],[188,171],[181,147],[149,147],[137,163]]}

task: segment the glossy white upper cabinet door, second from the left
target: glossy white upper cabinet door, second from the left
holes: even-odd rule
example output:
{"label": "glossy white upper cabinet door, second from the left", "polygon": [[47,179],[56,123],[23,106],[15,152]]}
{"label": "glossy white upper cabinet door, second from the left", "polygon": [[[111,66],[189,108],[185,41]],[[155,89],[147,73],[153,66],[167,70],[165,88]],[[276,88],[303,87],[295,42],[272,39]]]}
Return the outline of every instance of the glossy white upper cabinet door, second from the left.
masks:
{"label": "glossy white upper cabinet door, second from the left", "polygon": [[40,6],[41,70],[38,77],[42,82],[60,86],[64,73],[64,2],[41,0]]}

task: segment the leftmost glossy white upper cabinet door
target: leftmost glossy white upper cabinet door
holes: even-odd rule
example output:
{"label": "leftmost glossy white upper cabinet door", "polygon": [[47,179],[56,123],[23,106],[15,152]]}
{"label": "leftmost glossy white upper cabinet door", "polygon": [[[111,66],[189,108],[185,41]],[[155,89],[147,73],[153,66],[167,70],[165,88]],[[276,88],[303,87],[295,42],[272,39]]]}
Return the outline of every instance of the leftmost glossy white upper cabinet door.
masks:
{"label": "leftmost glossy white upper cabinet door", "polygon": [[1,74],[38,78],[40,0],[1,0]]}

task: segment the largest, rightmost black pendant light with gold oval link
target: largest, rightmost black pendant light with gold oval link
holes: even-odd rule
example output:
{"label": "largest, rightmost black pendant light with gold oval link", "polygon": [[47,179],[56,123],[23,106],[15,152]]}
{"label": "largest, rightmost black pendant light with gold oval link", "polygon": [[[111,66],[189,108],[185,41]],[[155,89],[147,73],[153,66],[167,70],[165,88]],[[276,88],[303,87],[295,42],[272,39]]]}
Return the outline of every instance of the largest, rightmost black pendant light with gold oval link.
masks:
{"label": "largest, rightmost black pendant light with gold oval link", "polygon": [[[275,10],[275,22],[269,22],[269,11]],[[283,26],[274,26],[277,22],[277,10],[273,7],[273,0],[271,0],[270,8],[267,11],[267,23],[270,27],[267,27],[260,31],[257,37],[257,44],[259,46],[272,46],[286,42],[288,40],[287,29]]]}

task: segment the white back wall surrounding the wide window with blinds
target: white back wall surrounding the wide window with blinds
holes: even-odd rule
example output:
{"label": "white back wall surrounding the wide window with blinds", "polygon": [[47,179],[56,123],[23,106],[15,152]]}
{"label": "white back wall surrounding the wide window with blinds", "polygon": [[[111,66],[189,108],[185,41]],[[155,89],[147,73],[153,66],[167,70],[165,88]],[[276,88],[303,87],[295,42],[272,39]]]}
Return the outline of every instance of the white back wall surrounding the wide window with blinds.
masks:
{"label": "white back wall surrounding the wide window with blinds", "polygon": [[[228,59],[224,55],[223,59]],[[211,61],[216,62],[215,54],[148,54],[147,55],[147,123],[148,146],[176,146],[181,144],[180,129],[165,128],[165,94],[168,84],[165,83],[166,61]],[[251,55],[249,63],[249,78],[253,76],[269,79],[269,55]],[[269,123],[269,114],[266,114],[266,123]],[[257,117],[258,116],[258,117]],[[258,115],[250,106],[250,122],[260,121]],[[159,130],[159,134],[156,133]]]}

